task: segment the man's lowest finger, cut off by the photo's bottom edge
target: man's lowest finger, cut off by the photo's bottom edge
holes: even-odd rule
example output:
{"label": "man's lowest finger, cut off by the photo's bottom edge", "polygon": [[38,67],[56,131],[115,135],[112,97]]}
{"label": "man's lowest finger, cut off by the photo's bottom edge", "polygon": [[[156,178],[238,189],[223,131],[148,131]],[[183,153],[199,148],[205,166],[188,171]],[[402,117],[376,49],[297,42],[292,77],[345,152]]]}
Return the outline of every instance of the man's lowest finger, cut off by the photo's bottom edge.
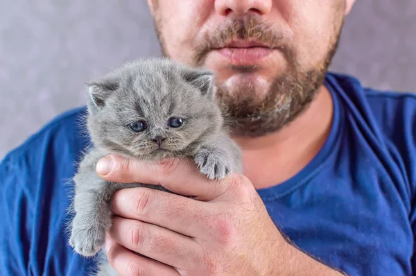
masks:
{"label": "man's lowest finger, cut off by the photo's bottom edge", "polygon": [[114,241],[105,244],[107,259],[119,275],[180,275],[175,268],[136,255]]}

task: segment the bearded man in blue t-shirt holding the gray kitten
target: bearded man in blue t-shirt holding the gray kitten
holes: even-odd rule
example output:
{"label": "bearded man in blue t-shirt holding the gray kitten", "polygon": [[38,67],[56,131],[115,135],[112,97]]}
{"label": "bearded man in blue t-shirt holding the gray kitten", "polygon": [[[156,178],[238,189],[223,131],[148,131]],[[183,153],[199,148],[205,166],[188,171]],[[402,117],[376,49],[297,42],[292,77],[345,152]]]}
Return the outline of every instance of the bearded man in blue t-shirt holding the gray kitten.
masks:
{"label": "bearded man in blue t-shirt holding the gray kitten", "polygon": [[[193,196],[116,193],[105,248],[120,275],[412,275],[416,98],[327,73],[353,2],[148,1],[164,54],[216,71],[244,176],[104,157],[102,178]],[[66,232],[83,112],[3,160],[1,275],[94,271]]]}

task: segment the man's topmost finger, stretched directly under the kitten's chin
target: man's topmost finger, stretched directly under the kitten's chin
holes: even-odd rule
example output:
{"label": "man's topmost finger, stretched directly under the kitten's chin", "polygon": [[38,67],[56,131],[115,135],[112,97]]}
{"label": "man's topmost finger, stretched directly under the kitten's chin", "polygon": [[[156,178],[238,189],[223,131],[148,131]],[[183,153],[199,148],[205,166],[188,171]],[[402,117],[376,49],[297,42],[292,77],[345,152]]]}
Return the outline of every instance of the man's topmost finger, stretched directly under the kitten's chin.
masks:
{"label": "man's topmost finger, stretched directly under the kitten's chin", "polygon": [[108,181],[162,185],[174,193],[200,200],[212,200],[227,189],[227,182],[207,179],[192,160],[184,158],[148,162],[107,155],[98,162],[96,171]]}

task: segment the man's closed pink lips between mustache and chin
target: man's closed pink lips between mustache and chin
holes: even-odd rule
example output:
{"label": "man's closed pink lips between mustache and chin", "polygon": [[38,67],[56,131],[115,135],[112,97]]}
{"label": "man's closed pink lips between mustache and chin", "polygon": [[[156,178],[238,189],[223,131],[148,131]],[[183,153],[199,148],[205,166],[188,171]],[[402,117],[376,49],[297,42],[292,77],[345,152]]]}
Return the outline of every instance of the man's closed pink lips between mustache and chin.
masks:
{"label": "man's closed pink lips between mustache and chin", "polygon": [[233,40],[223,47],[213,49],[234,66],[255,65],[278,48],[256,41]]}

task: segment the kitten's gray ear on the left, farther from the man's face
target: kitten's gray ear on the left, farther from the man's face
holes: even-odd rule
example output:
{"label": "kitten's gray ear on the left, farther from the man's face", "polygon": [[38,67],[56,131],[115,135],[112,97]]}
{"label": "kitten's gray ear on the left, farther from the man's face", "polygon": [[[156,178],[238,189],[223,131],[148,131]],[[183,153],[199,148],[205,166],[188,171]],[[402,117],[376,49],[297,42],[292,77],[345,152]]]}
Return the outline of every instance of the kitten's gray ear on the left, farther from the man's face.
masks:
{"label": "kitten's gray ear on the left, farther from the man's face", "polygon": [[101,109],[105,105],[108,96],[119,88],[116,80],[103,80],[98,82],[89,82],[85,84],[89,96],[89,108],[92,112]]}

